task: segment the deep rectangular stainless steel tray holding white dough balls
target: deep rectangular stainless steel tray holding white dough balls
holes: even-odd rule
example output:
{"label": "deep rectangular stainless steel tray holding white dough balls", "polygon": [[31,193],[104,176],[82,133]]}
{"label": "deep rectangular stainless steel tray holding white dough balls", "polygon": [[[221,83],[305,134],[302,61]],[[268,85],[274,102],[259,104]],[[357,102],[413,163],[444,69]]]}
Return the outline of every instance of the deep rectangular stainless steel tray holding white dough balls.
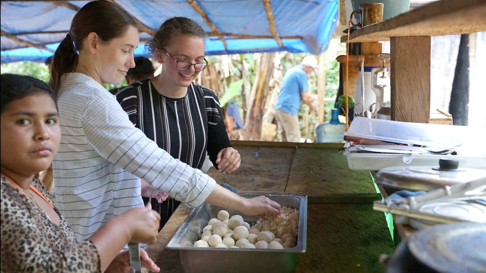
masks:
{"label": "deep rectangular stainless steel tray holding white dough balls", "polygon": [[294,194],[251,194],[240,196],[252,198],[264,195],[281,206],[299,209],[299,230],[297,246],[288,249],[221,249],[214,247],[193,247],[203,228],[211,218],[217,217],[225,209],[230,215],[239,214],[251,225],[258,221],[256,216],[248,216],[237,210],[203,204],[194,208],[179,227],[166,248],[180,250],[184,273],[294,273],[297,253],[306,251],[307,195]]}

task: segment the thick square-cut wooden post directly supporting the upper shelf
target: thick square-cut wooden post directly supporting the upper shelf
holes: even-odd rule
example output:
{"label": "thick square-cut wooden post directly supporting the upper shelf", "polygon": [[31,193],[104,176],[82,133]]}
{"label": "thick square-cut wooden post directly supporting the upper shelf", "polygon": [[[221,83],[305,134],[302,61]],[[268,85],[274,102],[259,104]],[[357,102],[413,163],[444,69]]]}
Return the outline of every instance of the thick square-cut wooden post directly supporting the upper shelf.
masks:
{"label": "thick square-cut wooden post directly supporting the upper shelf", "polygon": [[390,38],[392,120],[429,123],[430,36]]}

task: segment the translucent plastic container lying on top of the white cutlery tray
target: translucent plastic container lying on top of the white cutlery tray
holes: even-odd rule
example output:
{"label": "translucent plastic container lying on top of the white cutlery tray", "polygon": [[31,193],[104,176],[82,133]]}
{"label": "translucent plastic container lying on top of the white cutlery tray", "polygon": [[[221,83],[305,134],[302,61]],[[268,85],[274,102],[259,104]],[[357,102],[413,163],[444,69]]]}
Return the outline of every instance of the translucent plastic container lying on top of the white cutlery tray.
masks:
{"label": "translucent plastic container lying on top of the white cutlery tray", "polygon": [[484,128],[356,117],[346,136],[486,154]]}

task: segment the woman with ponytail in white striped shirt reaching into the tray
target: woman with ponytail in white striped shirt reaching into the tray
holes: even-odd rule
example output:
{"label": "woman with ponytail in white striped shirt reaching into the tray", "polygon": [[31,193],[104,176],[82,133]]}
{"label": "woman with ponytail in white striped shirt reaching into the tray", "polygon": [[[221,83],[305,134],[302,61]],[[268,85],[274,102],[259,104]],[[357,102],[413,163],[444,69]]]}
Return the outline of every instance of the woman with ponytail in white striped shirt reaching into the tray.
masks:
{"label": "woman with ponytail in white striped shirt reaching into the tray", "polygon": [[135,66],[138,44],[137,24],[126,11],[108,1],[92,1],[74,16],[52,60],[51,86],[62,133],[52,161],[56,202],[76,239],[86,239],[113,217],[143,206],[141,195],[164,200],[162,192],[191,207],[206,202],[247,215],[277,215],[277,203],[222,188],[133,125],[103,84],[121,83]]}

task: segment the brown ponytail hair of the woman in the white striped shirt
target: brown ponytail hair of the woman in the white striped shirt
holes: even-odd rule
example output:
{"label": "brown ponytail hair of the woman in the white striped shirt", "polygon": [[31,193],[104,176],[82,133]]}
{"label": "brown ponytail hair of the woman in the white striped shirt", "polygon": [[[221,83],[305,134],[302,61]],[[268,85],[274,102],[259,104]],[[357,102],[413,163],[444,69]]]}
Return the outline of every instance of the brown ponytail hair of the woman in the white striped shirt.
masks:
{"label": "brown ponytail hair of the woman in the white striped shirt", "polygon": [[64,73],[72,72],[78,62],[78,52],[82,50],[83,40],[94,32],[104,42],[121,37],[129,26],[137,22],[117,4],[97,0],[84,5],[74,16],[66,38],[61,41],[52,57],[51,80],[57,98],[61,95],[61,79]]}

